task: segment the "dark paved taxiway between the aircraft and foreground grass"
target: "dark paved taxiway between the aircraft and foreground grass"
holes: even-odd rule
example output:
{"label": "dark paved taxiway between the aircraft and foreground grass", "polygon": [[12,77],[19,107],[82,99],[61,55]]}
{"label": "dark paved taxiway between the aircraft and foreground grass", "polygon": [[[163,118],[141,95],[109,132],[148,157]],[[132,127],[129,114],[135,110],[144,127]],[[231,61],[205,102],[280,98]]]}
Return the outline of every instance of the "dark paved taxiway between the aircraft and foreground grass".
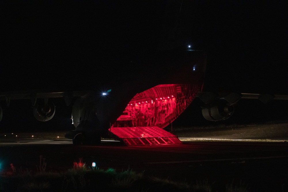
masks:
{"label": "dark paved taxiway between the aircraft and foreground grass", "polygon": [[[116,170],[128,168],[173,180],[242,181],[250,189],[281,191],[288,186],[287,142],[185,142],[183,145],[127,147],[103,141],[101,146],[74,146],[66,139],[0,140],[0,161],[37,171],[39,156],[46,158],[46,170],[64,171],[83,158],[88,165]],[[287,189],[288,191],[288,189]]]}

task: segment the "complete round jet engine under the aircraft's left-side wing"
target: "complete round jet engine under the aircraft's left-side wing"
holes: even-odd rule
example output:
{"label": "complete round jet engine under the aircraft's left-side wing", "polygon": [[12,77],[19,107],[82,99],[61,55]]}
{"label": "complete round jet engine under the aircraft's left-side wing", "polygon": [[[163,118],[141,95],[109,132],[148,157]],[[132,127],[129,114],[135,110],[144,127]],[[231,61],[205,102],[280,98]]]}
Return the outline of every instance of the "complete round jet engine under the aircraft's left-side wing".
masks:
{"label": "complete round jet engine under the aircraft's left-side wing", "polygon": [[37,104],[33,108],[33,113],[38,121],[48,121],[55,114],[55,105],[50,101],[46,104]]}

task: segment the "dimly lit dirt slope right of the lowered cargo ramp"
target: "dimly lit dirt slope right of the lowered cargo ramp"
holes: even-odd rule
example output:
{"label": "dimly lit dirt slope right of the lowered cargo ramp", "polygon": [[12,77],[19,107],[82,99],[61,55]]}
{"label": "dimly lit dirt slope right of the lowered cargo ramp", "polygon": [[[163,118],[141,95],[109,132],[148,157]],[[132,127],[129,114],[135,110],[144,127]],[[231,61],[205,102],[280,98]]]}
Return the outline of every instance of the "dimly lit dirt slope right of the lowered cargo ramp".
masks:
{"label": "dimly lit dirt slope right of the lowered cargo ramp", "polygon": [[175,128],[173,132],[182,141],[288,141],[288,123]]}

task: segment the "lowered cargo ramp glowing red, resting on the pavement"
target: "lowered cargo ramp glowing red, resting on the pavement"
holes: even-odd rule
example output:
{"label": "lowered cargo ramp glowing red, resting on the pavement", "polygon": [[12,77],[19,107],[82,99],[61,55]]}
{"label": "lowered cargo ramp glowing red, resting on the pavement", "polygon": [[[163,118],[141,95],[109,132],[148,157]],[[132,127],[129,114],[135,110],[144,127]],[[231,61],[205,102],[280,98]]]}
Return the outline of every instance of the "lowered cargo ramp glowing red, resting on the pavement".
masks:
{"label": "lowered cargo ramp glowing red, resting on the pavement", "polygon": [[122,140],[127,146],[182,144],[177,136],[157,126],[153,127],[111,127],[111,136]]}

